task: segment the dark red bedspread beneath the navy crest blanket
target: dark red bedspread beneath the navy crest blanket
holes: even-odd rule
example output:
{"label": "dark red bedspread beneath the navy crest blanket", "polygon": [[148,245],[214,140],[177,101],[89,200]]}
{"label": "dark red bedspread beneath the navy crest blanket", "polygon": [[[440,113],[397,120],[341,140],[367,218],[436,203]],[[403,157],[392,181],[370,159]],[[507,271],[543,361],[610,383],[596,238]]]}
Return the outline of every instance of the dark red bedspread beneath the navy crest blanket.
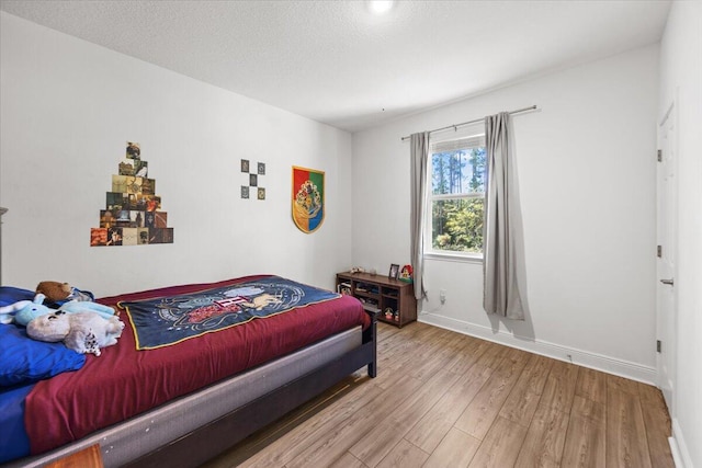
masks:
{"label": "dark red bedspread beneath the navy crest blanket", "polygon": [[[259,277],[174,286],[98,301],[116,307],[121,300],[185,294]],[[78,372],[42,380],[27,396],[24,421],[32,454],[79,440],[336,332],[370,324],[361,304],[341,296],[172,346],[136,351],[127,315],[123,312],[121,319],[126,327],[116,345],[104,349],[100,357],[88,355]]]}

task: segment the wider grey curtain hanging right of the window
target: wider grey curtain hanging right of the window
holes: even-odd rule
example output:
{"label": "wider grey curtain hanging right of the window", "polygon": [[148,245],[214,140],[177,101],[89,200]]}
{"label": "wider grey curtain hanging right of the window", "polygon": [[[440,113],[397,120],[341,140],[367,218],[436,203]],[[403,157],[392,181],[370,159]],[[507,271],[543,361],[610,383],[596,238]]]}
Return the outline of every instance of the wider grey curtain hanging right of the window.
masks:
{"label": "wider grey curtain hanging right of the window", "polygon": [[525,277],[517,168],[507,112],[485,117],[487,183],[483,227],[483,307],[524,320]]}

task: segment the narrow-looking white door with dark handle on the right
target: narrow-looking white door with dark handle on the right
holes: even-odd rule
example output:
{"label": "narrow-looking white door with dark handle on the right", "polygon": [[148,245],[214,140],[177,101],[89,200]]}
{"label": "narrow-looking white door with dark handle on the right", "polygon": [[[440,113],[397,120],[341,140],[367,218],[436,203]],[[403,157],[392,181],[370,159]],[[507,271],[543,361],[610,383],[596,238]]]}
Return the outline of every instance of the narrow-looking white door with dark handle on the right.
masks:
{"label": "narrow-looking white door with dark handle on the right", "polygon": [[677,179],[676,179],[676,105],[670,104],[668,112],[658,128],[659,162],[657,170],[657,310],[656,335],[660,341],[657,355],[658,387],[668,404],[668,411],[673,414],[673,388],[676,386],[676,326],[677,326],[677,294],[676,294],[676,254],[677,254]]}

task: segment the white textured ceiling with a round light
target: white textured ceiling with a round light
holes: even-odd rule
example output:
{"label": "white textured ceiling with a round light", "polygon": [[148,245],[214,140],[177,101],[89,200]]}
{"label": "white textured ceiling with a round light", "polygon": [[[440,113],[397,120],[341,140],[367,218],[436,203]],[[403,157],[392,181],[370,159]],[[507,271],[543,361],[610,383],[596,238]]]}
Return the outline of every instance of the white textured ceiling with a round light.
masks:
{"label": "white textured ceiling with a round light", "polygon": [[350,132],[654,44],[669,1],[1,0],[0,9]]}

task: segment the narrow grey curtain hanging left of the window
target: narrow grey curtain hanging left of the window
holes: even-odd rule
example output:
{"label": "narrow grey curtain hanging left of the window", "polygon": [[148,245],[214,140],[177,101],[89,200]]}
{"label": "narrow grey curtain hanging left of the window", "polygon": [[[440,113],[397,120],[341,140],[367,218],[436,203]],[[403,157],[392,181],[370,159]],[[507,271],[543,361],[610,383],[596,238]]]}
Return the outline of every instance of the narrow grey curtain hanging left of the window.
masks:
{"label": "narrow grey curtain hanging left of the window", "polygon": [[424,199],[427,198],[427,164],[429,162],[429,132],[412,134],[410,150],[410,248],[415,276],[415,297],[417,300],[420,300],[427,296],[423,281],[424,259],[422,251],[424,241]]}

